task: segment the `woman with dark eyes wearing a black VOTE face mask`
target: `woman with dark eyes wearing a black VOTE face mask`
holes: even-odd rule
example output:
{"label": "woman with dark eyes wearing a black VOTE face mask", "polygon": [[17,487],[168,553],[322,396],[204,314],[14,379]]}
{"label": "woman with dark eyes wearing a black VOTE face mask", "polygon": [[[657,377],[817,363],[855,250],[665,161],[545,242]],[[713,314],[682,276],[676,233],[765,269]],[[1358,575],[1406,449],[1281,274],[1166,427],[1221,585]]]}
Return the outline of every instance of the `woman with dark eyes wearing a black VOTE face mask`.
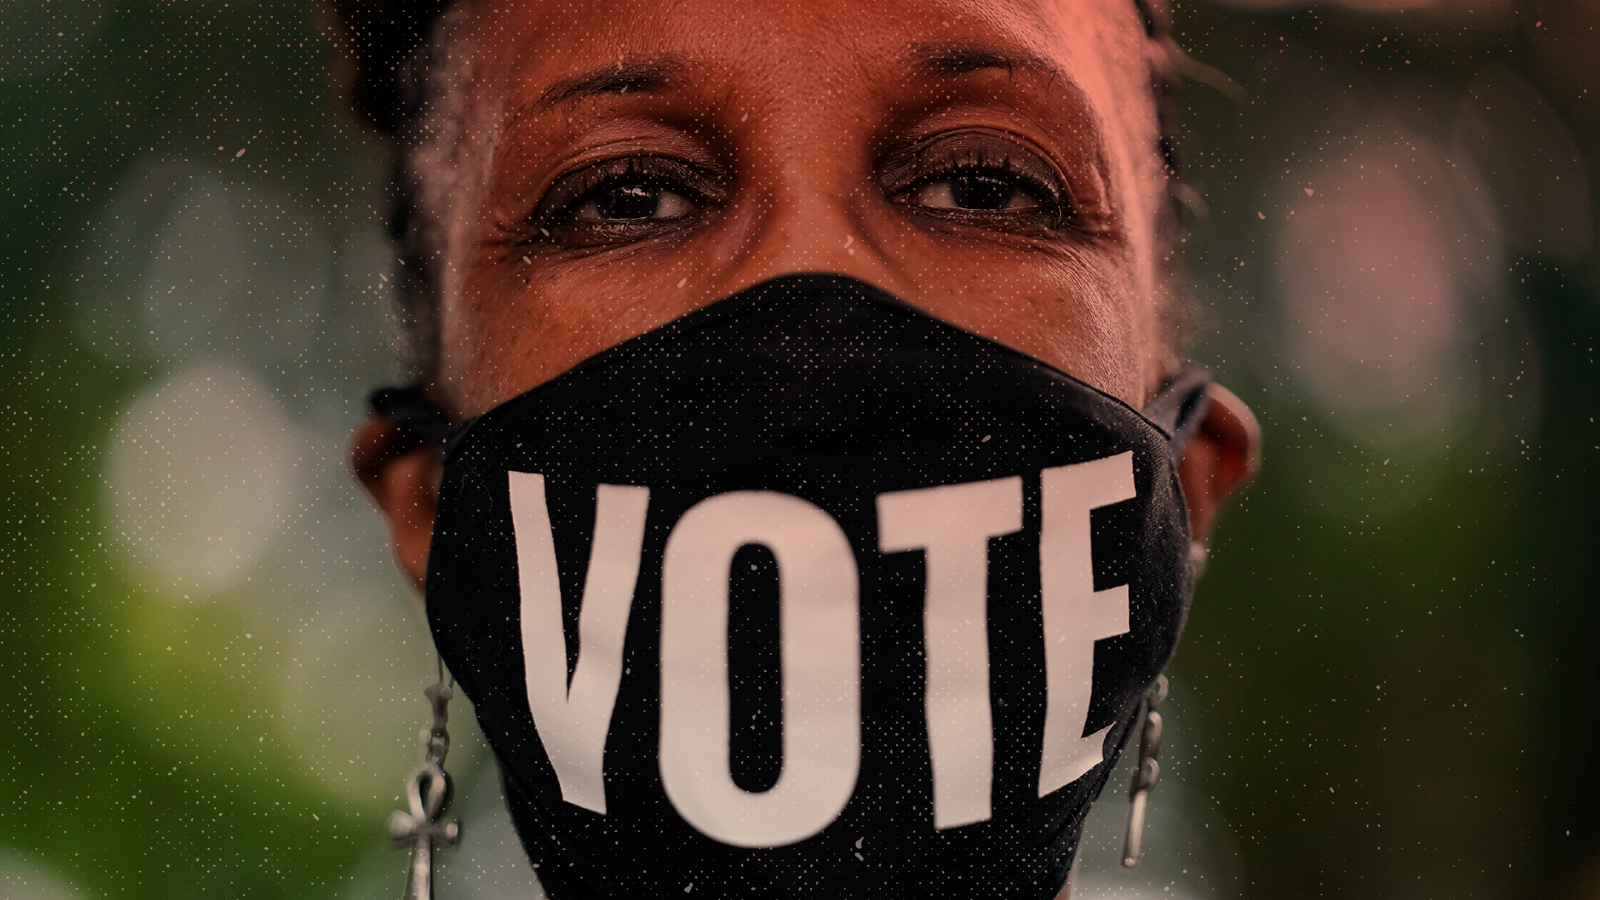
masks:
{"label": "woman with dark eyes wearing a black VOTE face mask", "polygon": [[1162,11],[434,6],[342,3],[416,375],[354,461],[547,890],[1054,897],[1254,453]]}

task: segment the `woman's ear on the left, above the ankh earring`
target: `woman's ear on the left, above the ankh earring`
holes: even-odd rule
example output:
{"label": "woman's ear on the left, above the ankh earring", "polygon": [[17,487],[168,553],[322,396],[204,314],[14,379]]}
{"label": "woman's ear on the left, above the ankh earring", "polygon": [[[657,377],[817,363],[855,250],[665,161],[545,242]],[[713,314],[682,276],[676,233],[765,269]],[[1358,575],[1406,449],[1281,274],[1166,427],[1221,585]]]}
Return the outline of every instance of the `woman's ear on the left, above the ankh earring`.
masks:
{"label": "woman's ear on the left, above the ankh earring", "polygon": [[350,464],[389,520],[400,570],[422,593],[434,512],[438,509],[438,456],[414,434],[373,415],[355,429]]}

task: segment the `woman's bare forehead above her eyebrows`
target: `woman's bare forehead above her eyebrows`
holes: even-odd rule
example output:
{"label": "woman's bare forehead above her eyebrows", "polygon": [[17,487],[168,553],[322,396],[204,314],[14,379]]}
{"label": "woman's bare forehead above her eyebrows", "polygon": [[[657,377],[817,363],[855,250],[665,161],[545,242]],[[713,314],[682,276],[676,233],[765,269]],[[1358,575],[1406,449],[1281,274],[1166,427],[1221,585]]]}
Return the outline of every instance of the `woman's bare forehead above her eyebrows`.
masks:
{"label": "woman's bare forehead above her eyebrows", "polygon": [[[893,90],[915,48],[970,45],[1034,61],[1102,119],[1147,93],[1134,0],[477,0],[466,26],[480,91],[517,106],[562,77],[635,59],[680,59],[696,77],[806,91],[827,82]],[[826,90],[826,88],[824,88]],[[483,96],[480,93],[480,96]],[[1136,112],[1136,115],[1139,114]]]}

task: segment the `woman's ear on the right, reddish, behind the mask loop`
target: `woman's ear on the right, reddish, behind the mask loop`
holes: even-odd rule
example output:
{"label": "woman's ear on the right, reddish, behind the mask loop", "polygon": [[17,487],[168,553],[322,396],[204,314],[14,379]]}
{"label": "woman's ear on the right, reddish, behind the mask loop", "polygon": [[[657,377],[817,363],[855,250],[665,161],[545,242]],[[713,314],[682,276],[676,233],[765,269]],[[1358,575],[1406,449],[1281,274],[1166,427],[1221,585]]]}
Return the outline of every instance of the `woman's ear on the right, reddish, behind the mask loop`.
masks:
{"label": "woman's ear on the right, reddish, behind the mask loop", "polygon": [[1178,480],[1189,504],[1189,533],[1202,544],[1229,495],[1243,487],[1261,463],[1261,426],[1250,407],[1221,384],[1211,384],[1206,397],[1211,402],[1205,420],[1178,461]]}

